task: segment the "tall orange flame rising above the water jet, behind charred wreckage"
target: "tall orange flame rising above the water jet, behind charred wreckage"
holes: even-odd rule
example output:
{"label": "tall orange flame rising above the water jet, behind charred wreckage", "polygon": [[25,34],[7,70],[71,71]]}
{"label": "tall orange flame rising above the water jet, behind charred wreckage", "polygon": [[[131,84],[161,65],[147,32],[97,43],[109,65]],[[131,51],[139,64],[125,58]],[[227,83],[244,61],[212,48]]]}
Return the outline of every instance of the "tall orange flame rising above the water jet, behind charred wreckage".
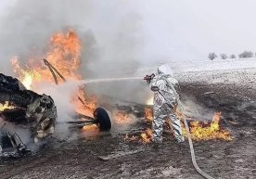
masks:
{"label": "tall orange flame rising above the water jet, behind charred wreckage", "polygon": [[[49,42],[48,52],[45,58],[53,65],[67,80],[80,80],[78,70],[81,64],[81,43],[75,32],[66,34],[58,32],[54,34]],[[19,65],[18,58],[12,58],[11,64],[14,72],[28,89],[33,83],[54,82],[53,76],[45,66],[42,58],[31,58],[25,66]]]}

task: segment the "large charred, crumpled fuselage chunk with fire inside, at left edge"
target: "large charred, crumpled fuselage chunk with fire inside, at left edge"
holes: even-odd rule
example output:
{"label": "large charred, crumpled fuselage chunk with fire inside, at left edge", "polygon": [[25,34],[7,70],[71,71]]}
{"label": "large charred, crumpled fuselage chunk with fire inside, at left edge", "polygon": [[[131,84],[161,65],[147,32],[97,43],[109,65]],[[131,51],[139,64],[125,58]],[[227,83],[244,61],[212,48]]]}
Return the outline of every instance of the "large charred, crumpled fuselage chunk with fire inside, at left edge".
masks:
{"label": "large charred, crumpled fuselage chunk with fire inside, at left edge", "polygon": [[0,73],[0,103],[1,118],[28,124],[33,137],[44,138],[54,132],[57,109],[51,96],[26,90],[18,79]]}

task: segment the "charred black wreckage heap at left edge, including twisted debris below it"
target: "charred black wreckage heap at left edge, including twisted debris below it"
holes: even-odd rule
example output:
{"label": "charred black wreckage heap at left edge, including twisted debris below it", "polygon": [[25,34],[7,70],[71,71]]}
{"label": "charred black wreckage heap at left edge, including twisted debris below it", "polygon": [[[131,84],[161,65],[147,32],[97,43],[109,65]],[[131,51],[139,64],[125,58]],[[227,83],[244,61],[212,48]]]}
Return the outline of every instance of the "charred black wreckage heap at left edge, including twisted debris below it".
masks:
{"label": "charred black wreckage heap at left edge, including twisted debris below it", "polygon": [[[22,124],[31,132],[35,141],[53,134],[57,109],[51,96],[38,95],[27,90],[18,79],[0,73],[0,104],[0,118],[14,125]],[[5,155],[9,148],[14,149],[14,156],[17,152],[27,153],[29,149],[19,135],[4,127],[5,124],[0,134],[1,153]]]}

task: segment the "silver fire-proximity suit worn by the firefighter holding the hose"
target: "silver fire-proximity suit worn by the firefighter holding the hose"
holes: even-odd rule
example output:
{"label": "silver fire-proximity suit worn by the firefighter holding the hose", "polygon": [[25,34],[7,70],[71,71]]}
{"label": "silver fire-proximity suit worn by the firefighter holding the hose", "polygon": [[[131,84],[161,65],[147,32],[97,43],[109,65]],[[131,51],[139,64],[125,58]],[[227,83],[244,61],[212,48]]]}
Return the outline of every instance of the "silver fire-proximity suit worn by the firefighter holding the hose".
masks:
{"label": "silver fire-proximity suit worn by the firefighter holding the hose", "polygon": [[162,141],[163,123],[170,119],[173,125],[173,133],[178,142],[184,142],[181,122],[175,114],[177,97],[174,85],[177,80],[173,78],[173,72],[167,65],[158,68],[155,77],[150,80],[149,87],[154,92],[154,120],[152,122],[153,141]]}

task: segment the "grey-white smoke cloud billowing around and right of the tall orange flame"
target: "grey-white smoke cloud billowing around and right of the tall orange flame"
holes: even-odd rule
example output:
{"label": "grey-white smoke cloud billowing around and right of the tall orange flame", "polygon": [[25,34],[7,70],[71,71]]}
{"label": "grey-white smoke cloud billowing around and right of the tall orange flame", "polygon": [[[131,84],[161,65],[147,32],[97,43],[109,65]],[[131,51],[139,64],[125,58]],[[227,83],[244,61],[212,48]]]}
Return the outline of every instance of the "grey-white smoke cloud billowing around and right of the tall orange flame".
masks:
{"label": "grey-white smoke cloud billowing around and right of the tall orange flame", "polygon": [[[122,0],[15,1],[0,19],[0,71],[13,75],[10,58],[17,56],[24,65],[29,58],[44,57],[54,32],[73,29],[82,42],[84,79],[132,76],[147,61],[143,58],[145,36],[139,4]],[[143,103],[148,96],[142,82],[88,88],[99,98]]]}

